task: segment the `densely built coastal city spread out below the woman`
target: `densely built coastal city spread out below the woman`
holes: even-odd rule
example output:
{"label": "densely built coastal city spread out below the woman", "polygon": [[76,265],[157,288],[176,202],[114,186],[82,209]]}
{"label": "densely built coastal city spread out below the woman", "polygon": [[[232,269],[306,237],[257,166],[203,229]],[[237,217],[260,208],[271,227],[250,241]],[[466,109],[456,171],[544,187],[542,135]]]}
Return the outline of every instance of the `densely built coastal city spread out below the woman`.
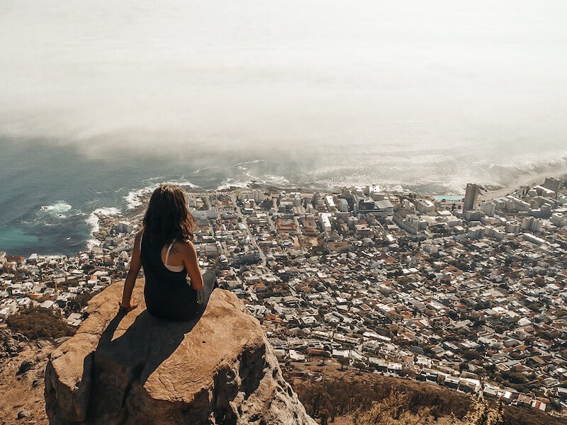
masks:
{"label": "densely built coastal city spread out below the woman", "polygon": [[[320,359],[567,417],[567,183],[464,196],[380,186],[186,188],[201,268],[282,363]],[[42,307],[78,327],[125,278],[148,194],[76,256],[0,252],[0,327]]]}

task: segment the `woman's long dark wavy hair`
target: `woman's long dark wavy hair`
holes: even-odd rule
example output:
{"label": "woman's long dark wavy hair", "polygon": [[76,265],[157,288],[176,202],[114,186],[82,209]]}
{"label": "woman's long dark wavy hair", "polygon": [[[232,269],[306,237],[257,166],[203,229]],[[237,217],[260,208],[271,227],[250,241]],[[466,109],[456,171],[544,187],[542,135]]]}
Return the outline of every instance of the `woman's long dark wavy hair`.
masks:
{"label": "woman's long dark wavy hair", "polygon": [[174,184],[162,184],[152,193],[143,223],[144,237],[160,247],[174,240],[193,240],[196,227],[185,191]]}

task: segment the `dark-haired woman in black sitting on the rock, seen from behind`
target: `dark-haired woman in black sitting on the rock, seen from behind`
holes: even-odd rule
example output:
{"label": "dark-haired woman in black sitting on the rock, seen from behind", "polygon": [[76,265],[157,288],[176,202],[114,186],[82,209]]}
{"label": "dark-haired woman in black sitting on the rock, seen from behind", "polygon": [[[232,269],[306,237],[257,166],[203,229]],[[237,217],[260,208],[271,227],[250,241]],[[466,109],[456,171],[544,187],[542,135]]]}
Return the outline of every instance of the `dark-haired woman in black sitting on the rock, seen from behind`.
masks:
{"label": "dark-haired woman in black sitting on the rock, seen from behind", "polygon": [[121,309],[130,311],[137,307],[131,297],[137,273],[143,266],[144,299],[152,316],[187,320],[205,310],[217,285],[213,271],[201,275],[197,252],[191,243],[195,227],[183,188],[163,184],[152,193],[143,227],[135,238]]}

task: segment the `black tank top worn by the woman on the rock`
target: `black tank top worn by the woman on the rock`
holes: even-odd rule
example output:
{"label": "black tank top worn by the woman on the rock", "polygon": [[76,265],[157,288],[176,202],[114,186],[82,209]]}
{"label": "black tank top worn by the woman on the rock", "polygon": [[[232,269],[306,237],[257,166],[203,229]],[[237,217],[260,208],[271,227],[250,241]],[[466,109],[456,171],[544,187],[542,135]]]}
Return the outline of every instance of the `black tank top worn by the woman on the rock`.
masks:
{"label": "black tank top worn by the woman on the rock", "polygon": [[142,243],[140,258],[146,284],[144,298],[147,311],[152,316],[168,320],[188,320],[196,316],[199,305],[196,290],[187,281],[187,271],[171,271],[162,261],[162,246],[154,246],[149,240]]}

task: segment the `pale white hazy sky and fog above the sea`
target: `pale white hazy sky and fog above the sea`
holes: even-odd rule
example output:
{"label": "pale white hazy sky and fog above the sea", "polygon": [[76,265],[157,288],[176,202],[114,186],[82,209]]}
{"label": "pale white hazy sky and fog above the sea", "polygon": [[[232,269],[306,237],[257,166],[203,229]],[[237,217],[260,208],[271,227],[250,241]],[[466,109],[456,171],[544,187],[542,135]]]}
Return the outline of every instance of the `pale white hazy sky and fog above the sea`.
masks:
{"label": "pale white hazy sky and fog above the sea", "polygon": [[2,0],[0,137],[567,149],[566,22],[564,0]]}

